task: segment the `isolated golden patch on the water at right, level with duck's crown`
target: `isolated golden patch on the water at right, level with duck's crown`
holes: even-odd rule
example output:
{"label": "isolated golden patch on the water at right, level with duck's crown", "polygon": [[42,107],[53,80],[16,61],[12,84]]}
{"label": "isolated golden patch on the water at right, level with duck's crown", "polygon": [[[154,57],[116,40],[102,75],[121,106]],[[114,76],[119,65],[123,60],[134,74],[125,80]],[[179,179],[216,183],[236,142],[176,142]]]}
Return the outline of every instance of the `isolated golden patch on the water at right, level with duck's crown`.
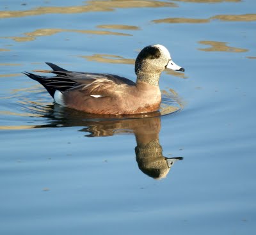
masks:
{"label": "isolated golden patch on the water at right, level with duck's crown", "polygon": [[215,41],[200,41],[198,43],[204,44],[204,45],[210,45],[209,48],[199,48],[198,50],[204,50],[207,52],[247,52],[248,49],[241,49],[237,47],[228,47],[226,42],[215,42]]}

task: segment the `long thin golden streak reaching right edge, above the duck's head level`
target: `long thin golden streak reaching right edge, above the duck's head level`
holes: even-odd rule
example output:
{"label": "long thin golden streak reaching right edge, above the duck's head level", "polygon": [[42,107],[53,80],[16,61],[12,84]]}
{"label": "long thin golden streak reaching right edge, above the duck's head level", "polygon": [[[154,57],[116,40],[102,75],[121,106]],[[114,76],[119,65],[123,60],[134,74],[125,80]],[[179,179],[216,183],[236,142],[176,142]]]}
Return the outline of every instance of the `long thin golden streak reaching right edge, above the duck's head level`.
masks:
{"label": "long thin golden streak reaching right edge, above the duck's head level", "polygon": [[256,14],[244,14],[244,15],[215,15],[208,19],[194,19],[194,18],[166,18],[166,19],[157,19],[152,20],[152,22],[159,23],[169,23],[169,24],[203,24],[211,22],[211,20],[221,20],[221,21],[255,21]]}

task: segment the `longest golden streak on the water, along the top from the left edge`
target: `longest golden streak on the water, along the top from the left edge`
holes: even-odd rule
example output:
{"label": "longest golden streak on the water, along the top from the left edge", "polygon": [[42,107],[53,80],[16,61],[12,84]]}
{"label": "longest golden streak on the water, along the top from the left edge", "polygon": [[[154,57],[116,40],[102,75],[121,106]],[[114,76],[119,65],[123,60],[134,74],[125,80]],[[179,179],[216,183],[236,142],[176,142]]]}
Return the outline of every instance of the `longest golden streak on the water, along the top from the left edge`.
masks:
{"label": "longest golden streak on the water, along the top from the left edge", "polygon": [[114,11],[115,8],[157,8],[157,7],[175,7],[175,3],[164,1],[148,0],[109,0],[109,1],[88,1],[82,6],[42,6],[25,11],[0,11],[0,19],[11,17],[27,17],[33,15],[43,15],[49,13],[74,14],[93,11]]}

